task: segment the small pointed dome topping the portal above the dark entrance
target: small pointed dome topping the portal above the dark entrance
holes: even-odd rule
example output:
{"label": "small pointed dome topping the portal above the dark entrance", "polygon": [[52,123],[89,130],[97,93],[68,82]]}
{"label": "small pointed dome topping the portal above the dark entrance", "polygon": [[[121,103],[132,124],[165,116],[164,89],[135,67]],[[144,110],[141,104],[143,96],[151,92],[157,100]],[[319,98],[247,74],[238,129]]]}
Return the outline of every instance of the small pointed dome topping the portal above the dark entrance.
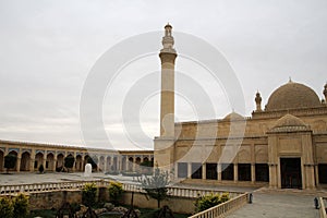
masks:
{"label": "small pointed dome topping the portal above the dark entrance", "polygon": [[290,131],[305,131],[310,128],[295,116],[286,114],[276,121],[271,132],[290,132]]}

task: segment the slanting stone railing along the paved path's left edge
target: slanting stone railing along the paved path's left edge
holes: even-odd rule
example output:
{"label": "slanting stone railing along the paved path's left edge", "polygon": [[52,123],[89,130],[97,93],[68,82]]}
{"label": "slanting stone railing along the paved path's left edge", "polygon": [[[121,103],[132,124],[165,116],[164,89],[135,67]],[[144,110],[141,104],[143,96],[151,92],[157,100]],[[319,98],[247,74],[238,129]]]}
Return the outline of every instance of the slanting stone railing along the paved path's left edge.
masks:
{"label": "slanting stone railing along the paved path's left edge", "polygon": [[219,218],[225,217],[227,214],[240,208],[247,203],[247,193],[241,194],[228,202],[219,204],[215,207],[197,213],[189,218]]}

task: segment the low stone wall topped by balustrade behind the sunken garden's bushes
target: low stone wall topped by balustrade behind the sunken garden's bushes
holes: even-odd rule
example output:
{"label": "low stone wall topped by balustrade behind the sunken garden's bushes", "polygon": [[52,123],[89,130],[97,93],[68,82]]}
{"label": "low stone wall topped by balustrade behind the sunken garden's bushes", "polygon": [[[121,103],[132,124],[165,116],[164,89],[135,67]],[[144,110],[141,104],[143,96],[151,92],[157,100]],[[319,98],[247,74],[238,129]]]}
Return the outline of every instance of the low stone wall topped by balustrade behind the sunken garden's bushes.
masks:
{"label": "low stone wall topped by balustrade behind the sunken garden's bushes", "polygon": [[[43,183],[43,184],[20,184],[20,185],[1,185],[0,195],[15,195],[25,193],[29,196],[31,209],[50,209],[60,208],[64,201],[69,203],[82,203],[82,187],[86,183],[94,182],[99,189],[97,199],[99,202],[109,202],[108,186],[110,181],[74,181],[61,183]],[[141,208],[157,208],[157,201],[146,198],[142,189],[134,184],[123,184],[121,204],[130,205],[132,193],[134,193],[134,206]],[[213,191],[209,189],[190,189],[190,187],[169,187],[168,199],[161,202],[160,206],[168,205],[174,213],[192,214],[194,213],[194,202],[198,195],[222,194],[222,191]],[[243,193],[229,192],[231,198],[235,198]]]}

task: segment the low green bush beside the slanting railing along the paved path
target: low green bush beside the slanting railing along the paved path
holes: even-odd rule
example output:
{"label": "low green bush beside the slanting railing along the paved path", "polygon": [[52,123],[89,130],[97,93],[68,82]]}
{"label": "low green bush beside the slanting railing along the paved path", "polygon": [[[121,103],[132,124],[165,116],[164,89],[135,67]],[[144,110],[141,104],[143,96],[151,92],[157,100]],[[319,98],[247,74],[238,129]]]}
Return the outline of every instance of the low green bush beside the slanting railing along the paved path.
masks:
{"label": "low green bush beside the slanting railing along the paved path", "polygon": [[209,195],[199,196],[194,203],[195,211],[199,213],[206,210],[210,207],[227,202],[229,198],[230,197],[228,193],[223,193],[221,194],[221,196],[219,194],[213,194],[213,193]]}

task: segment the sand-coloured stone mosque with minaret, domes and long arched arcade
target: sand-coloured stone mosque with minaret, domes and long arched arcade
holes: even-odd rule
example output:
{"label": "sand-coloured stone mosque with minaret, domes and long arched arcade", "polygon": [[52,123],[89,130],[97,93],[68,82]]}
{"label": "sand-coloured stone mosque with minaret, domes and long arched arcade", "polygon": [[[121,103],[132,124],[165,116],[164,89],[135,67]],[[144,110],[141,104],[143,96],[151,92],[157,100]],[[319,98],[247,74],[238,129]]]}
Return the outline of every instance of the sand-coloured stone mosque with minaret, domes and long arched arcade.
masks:
{"label": "sand-coloured stone mosque with minaret, domes and long arched arcade", "polygon": [[[88,157],[99,170],[135,171],[155,161],[185,183],[228,184],[271,189],[327,186],[327,84],[325,99],[308,86],[289,81],[262,107],[259,93],[251,117],[235,112],[223,119],[174,122],[174,61],[171,25],[165,26],[161,60],[160,135],[154,150],[107,150],[77,146],[0,141],[0,171],[4,156],[17,156],[13,171],[56,171],[66,156],[73,171],[83,171]],[[135,164],[135,165],[132,165]]]}

